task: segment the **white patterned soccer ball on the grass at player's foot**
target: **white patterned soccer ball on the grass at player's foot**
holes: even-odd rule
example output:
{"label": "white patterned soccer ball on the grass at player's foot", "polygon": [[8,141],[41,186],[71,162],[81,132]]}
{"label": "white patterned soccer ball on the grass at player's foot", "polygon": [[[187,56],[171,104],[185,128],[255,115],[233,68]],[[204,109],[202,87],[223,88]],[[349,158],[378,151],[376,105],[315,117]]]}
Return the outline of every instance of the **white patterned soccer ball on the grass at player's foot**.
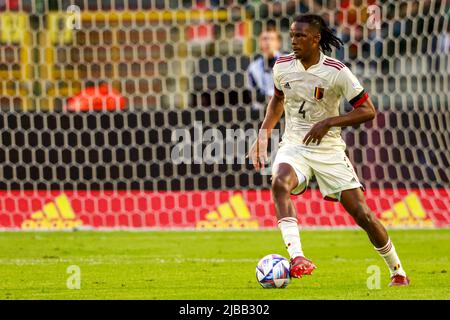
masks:
{"label": "white patterned soccer ball on the grass at player's foot", "polygon": [[256,266],[256,279],[263,288],[285,288],[291,281],[289,261],[278,254],[268,254]]}

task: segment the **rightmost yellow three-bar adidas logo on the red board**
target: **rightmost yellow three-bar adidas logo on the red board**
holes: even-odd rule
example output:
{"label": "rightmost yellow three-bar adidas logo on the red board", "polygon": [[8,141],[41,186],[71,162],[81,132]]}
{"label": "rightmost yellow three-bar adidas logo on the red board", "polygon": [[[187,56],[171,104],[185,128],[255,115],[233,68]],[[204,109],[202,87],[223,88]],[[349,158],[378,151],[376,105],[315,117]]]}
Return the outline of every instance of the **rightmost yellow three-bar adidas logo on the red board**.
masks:
{"label": "rightmost yellow three-bar adidas logo on the red board", "polygon": [[420,198],[414,192],[395,203],[391,210],[381,213],[381,222],[387,227],[434,227]]}

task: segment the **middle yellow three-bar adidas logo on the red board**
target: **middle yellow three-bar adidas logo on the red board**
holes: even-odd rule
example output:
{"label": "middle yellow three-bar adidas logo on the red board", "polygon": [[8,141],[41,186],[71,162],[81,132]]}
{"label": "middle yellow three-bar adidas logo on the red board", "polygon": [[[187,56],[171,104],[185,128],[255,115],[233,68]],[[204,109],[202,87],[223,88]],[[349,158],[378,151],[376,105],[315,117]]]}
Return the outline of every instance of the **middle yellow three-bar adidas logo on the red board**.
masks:
{"label": "middle yellow three-bar adidas logo on the red board", "polygon": [[242,196],[232,196],[228,203],[208,212],[205,219],[197,222],[196,229],[258,229],[258,220],[252,219]]}

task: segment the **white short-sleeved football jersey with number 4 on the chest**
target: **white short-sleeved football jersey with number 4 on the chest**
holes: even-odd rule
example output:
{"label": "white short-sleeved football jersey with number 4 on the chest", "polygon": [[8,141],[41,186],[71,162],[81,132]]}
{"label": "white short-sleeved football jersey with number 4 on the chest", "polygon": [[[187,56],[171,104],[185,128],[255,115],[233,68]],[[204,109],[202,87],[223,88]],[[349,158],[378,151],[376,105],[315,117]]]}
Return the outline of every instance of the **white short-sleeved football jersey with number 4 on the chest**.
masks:
{"label": "white short-sleeved football jersey with number 4 on the chest", "polygon": [[[283,142],[304,145],[303,138],[314,124],[339,115],[342,97],[354,108],[368,98],[350,69],[322,52],[319,62],[308,70],[294,53],[281,56],[273,67],[273,77],[275,95],[284,96]],[[331,128],[319,146],[309,143],[305,148],[345,150],[341,128]]]}

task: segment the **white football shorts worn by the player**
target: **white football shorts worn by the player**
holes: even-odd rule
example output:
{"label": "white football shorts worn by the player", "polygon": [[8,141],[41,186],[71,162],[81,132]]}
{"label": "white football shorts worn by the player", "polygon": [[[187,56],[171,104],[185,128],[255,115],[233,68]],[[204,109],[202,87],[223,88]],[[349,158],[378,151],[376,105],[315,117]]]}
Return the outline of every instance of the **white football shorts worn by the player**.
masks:
{"label": "white football shorts worn by the player", "polygon": [[303,193],[313,176],[326,200],[340,201],[341,192],[362,188],[352,163],[343,150],[308,149],[299,144],[281,143],[272,165],[276,172],[280,163],[289,164],[295,171],[299,184],[291,194]]}

